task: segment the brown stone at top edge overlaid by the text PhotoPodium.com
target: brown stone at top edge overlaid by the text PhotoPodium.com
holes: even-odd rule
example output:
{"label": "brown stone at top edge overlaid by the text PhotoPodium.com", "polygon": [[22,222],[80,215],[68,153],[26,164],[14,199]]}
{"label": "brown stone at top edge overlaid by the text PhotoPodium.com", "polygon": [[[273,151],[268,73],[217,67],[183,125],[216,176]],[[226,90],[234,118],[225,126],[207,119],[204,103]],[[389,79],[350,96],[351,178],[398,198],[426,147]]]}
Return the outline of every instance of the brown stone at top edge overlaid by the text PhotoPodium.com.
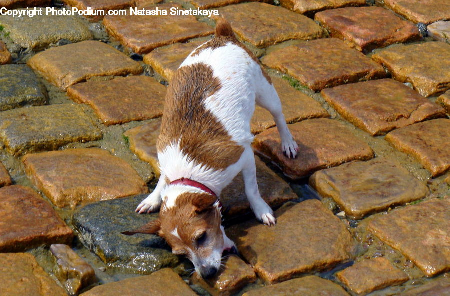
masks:
{"label": "brown stone at top edge overlaid by the text PhotoPodium.com", "polygon": [[[124,9],[134,6],[135,0],[63,0],[63,2],[80,10],[86,10],[88,7],[92,10],[103,10],[105,15],[107,15],[109,10]],[[89,15],[87,17],[90,21],[99,21],[103,19],[104,15],[101,13],[98,14],[99,15]]]}

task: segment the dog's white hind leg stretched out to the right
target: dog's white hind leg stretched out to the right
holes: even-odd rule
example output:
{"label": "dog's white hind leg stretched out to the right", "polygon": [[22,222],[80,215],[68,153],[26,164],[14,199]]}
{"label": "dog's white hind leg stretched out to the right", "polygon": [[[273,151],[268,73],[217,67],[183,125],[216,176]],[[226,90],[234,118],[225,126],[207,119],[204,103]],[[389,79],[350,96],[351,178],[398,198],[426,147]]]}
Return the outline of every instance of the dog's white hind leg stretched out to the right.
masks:
{"label": "dog's white hind leg stretched out to the right", "polygon": [[276,93],[275,87],[267,79],[262,77],[261,80],[262,82],[258,83],[258,89],[256,90],[256,104],[267,109],[272,114],[281,137],[281,146],[284,154],[289,158],[295,158],[298,152],[298,145],[287,127],[278,93]]}

